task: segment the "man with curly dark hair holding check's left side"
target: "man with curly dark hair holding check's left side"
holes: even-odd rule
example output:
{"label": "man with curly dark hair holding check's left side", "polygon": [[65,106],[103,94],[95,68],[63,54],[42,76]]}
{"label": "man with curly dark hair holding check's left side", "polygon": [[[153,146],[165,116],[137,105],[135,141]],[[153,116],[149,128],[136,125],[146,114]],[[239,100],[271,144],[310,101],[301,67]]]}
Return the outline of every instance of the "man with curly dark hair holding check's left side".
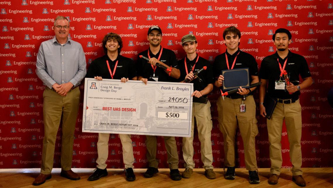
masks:
{"label": "man with curly dark hair holding check's left side", "polygon": [[[121,37],[116,33],[105,35],[102,41],[105,55],[95,59],[89,66],[86,78],[95,78],[96,80],[117,79],[122,82],[129,80],[137,80],[137,71],[135,63],[132,59],[119,55],[123,47]],[[133,172],[133,163],[135,161],[133,155],[133,145],[131,135],[119,134],[123,146],[123,159],[125,163],[126,179],[134,181],[136,179]],[[101,177],[107,176],[106,160],[108,159],[109,149],[109,133],[98,133],[97,143],[97,168],[94,174],[90,175],[88,180],[94,181]]]}

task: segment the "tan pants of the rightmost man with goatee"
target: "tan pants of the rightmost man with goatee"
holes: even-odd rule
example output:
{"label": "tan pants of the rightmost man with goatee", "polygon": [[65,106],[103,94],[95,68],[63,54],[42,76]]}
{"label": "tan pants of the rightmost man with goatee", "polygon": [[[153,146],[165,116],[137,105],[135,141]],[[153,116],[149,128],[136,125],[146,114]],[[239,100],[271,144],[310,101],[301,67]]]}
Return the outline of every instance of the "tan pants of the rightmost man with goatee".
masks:
{"label": "tan pants of the rightmost man with goatee", "polygon": [[278,102],[270,120],[267,119],[267,130],[269,140],[269,157],[271,160],[271,174],[280,175],[282,165],[281,135],[283,119],[286,124],[289,139],[289,156],[292,163],[291,172],[293,175],[302,175],[302,115],[299,99],[291,104]]}

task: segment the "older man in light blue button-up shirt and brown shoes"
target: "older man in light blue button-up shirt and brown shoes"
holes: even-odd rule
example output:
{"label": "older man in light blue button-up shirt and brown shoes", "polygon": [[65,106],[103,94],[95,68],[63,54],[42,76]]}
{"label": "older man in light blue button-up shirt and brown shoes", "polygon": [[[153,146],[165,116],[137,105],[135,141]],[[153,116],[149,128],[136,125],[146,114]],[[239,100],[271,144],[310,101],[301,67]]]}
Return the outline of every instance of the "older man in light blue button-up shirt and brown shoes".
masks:
{"label": "older man in light blue button-up shirt and brown shoes", "polygon": [[74,131],[79,112],[78,86],[86,75],[86,57],[80,43],[68,38],[69,22],[57,16],[53,39],[42,42],[37,55],[37,76],[46,86],[43,98],[44,140],[41,173],[33,185],[51,178],[56,136],[62,118],[60,175],[71,180],[80,176],[71,170]]}

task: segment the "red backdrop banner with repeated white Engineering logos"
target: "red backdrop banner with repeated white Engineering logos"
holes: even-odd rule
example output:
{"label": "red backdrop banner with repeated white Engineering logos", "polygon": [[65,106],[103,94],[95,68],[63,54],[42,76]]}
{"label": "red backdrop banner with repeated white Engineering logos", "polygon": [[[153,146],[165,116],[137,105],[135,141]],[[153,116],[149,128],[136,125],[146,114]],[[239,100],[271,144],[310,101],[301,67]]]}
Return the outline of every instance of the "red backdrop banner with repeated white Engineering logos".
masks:
{"label": "red backdrop banner with repeated white Engineering logos", "polygon": [[[333,86],[333,1],[332,0],[1,0],[0,14],[0,168],[40,167],[42,154],[43,86],[36,75],[36,56],[41,42],[54,37],[56,16],[70,20],[69,37],[80,42],[87,69],[104,55],[102,39],[108,32],[120,34],[121,55],[133,58],[149,47],[148,28],[163,31],[162,46],[172,49],[177,59],[185,56],[181,37],[193,33],[197,53],[211,63],[226,50],[222,33],[235,26],[241,31],[240,49],[261,60],[276,51],[272,35],[278,28],[292,34],[290,50],[308,62],[313,85],[301,91],[303,167],[332,167],[333,114],[327,93]],[[83,96],[83,85],[80,86]],[[213,129],[213,166],[223,167],[223,138],[218,129],[215,88],[209,99]],[[258,104],[258,89],[255,91]],[[257,107],[259,134],[256,137],[258,167],[270,167],[266,118]],[[82,133],[83,97],[75,130],[73,167],[96,166],[98,133]],[[283,168],[290,168],[288,135],[282,132]],[[111,134],[108,168],[123,168],[119,135]],[[132,135],[136,168],[146,168],[145,136]],[[176,138],[179,167],[183,167],[182,142]],[[195,131],[194,161],[202,167],[200,142]],[[54,167],[60,167],[61,125],[54,153]],[[244,148],[239,131],[236,137],[236,167],[244,168]],[[167,168],[162,136],[157,157]]]}

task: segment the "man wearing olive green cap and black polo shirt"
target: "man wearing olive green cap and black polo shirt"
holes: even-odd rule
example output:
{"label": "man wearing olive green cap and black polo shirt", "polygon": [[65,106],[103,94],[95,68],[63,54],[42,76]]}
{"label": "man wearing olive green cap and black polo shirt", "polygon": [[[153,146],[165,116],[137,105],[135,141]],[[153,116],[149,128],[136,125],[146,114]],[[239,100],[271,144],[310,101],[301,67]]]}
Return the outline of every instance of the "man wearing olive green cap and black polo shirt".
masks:
{"label": "man wearing olive green cap and black polo shirt", "polygon": [[[193,34],[187,34],[181,38],[181,44],[186,52],[186,57],[178,61],[180,70],[180,80],[193,79],[193,72],[197,72],[206,66],[206,70],[199,73],[197,78],[190,83],[194,84],[193,107],[192,107],[192,129],[191,137],[183,137],[183,157],[185,161],[185,170],[182,173],[183,178],[190,178],[193,173],[195,163],[193,161],[193,132],[194,132],[194,119],[198,130],[198,137],[201,143],[201,161],[205,169],[205,176],[208,179],[215,179],[216,174],[213,171],[213,154],[211,149],[210,132],[213,126],[210,114],[210,102],[207,94],[213,90],[213,69],[209,61],[205,60],[196,54],[196,47],[198,46],[196,38]],[[207,103],[198,101],[199,97],[205,97]]]}

